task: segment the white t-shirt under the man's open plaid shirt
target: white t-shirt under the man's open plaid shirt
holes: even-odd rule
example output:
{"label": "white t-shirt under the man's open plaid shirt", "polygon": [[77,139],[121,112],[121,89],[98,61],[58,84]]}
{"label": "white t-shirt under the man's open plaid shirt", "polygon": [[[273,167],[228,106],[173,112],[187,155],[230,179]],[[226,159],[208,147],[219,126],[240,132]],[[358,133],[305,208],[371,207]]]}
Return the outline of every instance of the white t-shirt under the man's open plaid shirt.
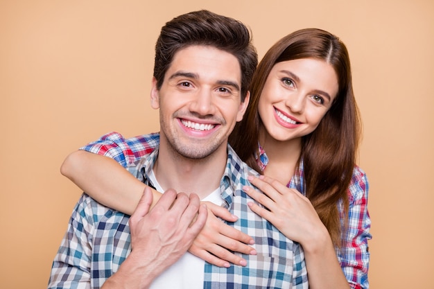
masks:
{"label": "white t-shirt under the man's open plaid shirt", "polygon": [[[157,182],[153,170],[148,177],[155,186],[155,189],[160,193],[164,193],[165,190]],[[223,204],[220,189],[216,189],[216,191],[207,195],[202,201],[212,202],[220,206]],[[203,288],[204,267],[205,261],[190,252],[186,252],[184,256],[153,281],[150,289]]]}

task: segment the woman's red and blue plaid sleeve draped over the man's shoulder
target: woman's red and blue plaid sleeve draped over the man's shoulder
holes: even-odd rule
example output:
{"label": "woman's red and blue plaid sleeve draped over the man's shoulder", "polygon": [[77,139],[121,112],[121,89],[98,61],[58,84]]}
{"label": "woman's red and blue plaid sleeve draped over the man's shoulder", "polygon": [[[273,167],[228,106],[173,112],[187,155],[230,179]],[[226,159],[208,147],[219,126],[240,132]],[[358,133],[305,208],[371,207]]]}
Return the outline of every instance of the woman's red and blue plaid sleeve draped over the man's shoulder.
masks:
{"label": "woman's red and blue plaid sleeve draped over the man's shoulder", "polygon": [[146,134],[125,139],[118,132],[103,135],[97,141],[88,143],[80,150],[111,157],[124,168],[134,164],[140,157],[153,152],[159,145],[159,134]]}

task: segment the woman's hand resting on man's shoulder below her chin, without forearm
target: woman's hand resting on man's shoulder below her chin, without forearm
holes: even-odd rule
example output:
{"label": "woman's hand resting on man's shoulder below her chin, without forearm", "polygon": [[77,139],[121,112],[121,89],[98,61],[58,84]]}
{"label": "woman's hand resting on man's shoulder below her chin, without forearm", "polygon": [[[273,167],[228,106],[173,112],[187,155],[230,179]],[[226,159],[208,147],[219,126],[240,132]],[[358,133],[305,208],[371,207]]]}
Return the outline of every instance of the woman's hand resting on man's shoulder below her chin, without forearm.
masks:
{"label": "woman's hand resting on man's shoulder below her chin, without forearm", "polygon": [[244,186],[243,191],[268,210],[254,202],[248,203],[250,209],[271,222],[287,238],[305,247],[318,240],[317,234],[324,234],[324,229],[327,231],[309,199],[299,191],[265,175],[249,176],[248,179],[263,193],[250,186]]}

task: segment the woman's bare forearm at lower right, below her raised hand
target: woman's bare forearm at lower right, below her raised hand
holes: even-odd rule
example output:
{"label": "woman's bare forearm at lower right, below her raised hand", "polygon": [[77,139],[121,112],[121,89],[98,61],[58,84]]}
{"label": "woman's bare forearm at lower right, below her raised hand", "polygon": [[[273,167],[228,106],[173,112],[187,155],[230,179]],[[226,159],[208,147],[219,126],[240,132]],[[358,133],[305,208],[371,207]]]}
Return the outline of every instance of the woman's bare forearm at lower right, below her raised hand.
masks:
{"label": "woman's bare forearm at lower right, below her raised hand", "polygon": [[349,289],[349,283],[340,268],[336,252],[327,233],[309,245],[302,245],[306,259],[306,268],[310,289]]}

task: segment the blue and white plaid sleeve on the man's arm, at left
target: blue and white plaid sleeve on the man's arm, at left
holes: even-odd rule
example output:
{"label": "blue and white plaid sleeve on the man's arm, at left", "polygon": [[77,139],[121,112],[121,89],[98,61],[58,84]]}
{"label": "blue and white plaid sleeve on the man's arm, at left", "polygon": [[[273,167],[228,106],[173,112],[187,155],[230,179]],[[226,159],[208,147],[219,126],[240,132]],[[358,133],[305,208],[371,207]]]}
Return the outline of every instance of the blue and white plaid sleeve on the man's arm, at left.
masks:
{"label": "blue and white plaid sleeve on the man's arm, at left", "polygon": [[91,288],[92,211],[83,194],[69,219],[67,233],[55,255],[49,289]]}

